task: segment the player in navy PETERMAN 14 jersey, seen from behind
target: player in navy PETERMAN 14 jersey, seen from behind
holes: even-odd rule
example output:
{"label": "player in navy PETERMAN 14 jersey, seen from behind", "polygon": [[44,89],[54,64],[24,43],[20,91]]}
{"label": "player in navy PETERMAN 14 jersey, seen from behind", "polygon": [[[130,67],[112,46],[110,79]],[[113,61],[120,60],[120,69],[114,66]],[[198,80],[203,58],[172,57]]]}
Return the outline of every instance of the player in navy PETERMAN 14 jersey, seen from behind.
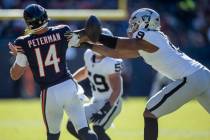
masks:
{"label": "player in navy PETERMAN 14 jersey, seen from behind", "polygon": [[78,98],[78,84],[72,79],[66,67],[68,38],[65,33],[71,31],[67,25],[48,26],[46,10],[37,4],[24,9],[24,20],[30,31],[18,37],[9,47],[21,47],[16,61],[10,69],[13,80],[18,80],[29,65],[35,81],[41,88],[41,103],[47,140],[58,140],[60,124],[65,111],[71,117],[79,139],[96,140],[90,131],[85,111]]}

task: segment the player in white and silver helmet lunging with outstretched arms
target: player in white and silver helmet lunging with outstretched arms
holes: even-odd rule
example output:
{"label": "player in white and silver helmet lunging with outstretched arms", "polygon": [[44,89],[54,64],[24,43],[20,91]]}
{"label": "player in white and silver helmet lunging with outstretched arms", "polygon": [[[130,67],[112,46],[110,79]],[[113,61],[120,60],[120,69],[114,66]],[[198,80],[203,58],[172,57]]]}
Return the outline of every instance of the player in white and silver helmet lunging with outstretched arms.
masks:
{"label": "player in white and silver helmet lunging with outstretched arms", "polygon": [[[180,52],[160,31],[160,27],[159,14],[152,9],[141,8],[133,12],[129,19],[129,38],[100,34],[96,39],[104,45],[94,44],[95,40],[91,39],[93,44],[89,46],[94,51],[112,57],[141,56],[147,64],[173,80],[146,104],[143,115],[144,140],[157,140],[158,118],[177,110],[192,99],[197,99],[210,113],[209,69]],[[91,41],[88,35],[73,33],[73,36],[79,43]],[[113,49],[114,53],[110,53],[107,47]],[[128,53],[122,55],[121,52],[126,51]]]}

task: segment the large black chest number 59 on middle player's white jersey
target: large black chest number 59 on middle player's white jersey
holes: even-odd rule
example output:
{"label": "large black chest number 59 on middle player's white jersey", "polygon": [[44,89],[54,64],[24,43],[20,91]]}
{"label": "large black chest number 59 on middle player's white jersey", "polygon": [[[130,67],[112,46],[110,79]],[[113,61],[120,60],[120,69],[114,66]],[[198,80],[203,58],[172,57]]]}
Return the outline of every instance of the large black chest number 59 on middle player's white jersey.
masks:
{"label": "large black chest number 59 on middle player's white jersey", "polygon": [[109,90],[109,86],[106,83],[106,79],[103,75],[99,74],[94,74],[91,75],[90,72],[88,72],[89,76],[92,76],[93,78],[93,83],[91,82],[91,87],[93,91],[98,91],[98,92],[106,92]]}

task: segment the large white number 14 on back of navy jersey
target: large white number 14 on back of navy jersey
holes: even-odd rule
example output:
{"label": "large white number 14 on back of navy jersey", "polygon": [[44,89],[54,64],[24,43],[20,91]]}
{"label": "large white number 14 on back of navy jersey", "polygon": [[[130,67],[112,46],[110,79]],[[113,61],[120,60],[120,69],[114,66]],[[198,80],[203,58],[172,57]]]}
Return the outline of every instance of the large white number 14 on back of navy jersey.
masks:
{"label": "large white number 14 on back of navy jersey", "polygon": [[36,58],[37,58],[37,62],[38,62],[40,77],[45,76],[44,68],[47,66],[50,66],[50,65],[54,65],[54,69],[55,69],[56,73],[60,72],[60,68],[58,65],[58,63],[60,62],[60,58],[57,57],[55,44],[50,45],[48,53],[47,53],[47,57],[46,57],[44,63],[42,60],[43,58],[41,56],[40,48],[36,48],[35,53],[36,53]]}

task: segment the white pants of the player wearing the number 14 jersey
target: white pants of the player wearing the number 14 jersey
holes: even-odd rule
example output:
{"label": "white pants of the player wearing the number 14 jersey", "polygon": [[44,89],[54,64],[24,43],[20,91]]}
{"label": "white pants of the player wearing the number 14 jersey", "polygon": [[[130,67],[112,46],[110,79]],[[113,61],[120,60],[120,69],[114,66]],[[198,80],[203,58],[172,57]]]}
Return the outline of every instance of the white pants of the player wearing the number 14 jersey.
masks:
{"label": "white pants of the player wearing the number 14 jersey", "polygon": [[67,80],[41,92],[42,114],[47,132],[60,132],[64,111],[70,117],[75,129],[88,127],[84,107],[77,95],[78,85]]}

